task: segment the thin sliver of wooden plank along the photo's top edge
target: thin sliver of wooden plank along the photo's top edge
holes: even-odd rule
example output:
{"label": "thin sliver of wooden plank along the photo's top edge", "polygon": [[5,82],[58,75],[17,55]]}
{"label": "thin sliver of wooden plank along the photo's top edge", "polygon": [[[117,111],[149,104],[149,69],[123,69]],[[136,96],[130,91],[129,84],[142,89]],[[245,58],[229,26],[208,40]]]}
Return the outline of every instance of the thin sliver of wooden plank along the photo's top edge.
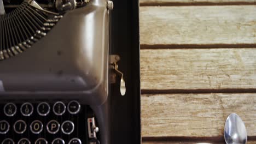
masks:
{"label": "thin sliver of wooden plank along the photo's top edge", "polygon": [[255,0],[139,0],[140,4],[165,4],[165,3],[256,3]]}

